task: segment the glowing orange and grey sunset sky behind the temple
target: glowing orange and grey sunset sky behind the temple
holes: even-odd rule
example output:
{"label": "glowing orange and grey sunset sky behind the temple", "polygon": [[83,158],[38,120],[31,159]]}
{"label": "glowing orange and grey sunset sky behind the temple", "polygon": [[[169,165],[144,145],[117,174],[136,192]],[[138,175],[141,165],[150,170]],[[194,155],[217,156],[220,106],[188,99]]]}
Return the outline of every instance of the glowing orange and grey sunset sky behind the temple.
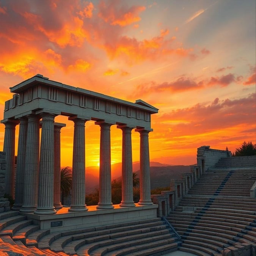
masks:
{"label": "glowing orange and grey sunset sky behind the temple", "polygon": [[[159,108],[151,161],[190,165],[200,146],[256,143],[255,11],[255,0],[0,0],[0,119],[9,87],[42,74]],[[55,120],[67,124],[61,165],[71,166],[73,122]],[[116,126],[111,140],[121,162]],[[139,133],[132,140],[138,161]],[[88,121],[86,166],[98,163],[99,126]]]}

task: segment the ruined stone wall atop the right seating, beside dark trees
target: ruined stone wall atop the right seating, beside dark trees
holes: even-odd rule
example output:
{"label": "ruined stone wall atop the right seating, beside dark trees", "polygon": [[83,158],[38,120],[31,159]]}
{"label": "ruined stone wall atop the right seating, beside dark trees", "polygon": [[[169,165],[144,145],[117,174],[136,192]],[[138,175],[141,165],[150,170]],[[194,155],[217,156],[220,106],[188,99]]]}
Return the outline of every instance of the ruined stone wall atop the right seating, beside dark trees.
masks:
{"label": "ruined stone wall atop the right seating, beside dark trees", "polygon": [[211,149],[210,146],[201,146],[197,149],[197,165],[202,172],[214,167],[221,157],[231,157],[231,151]]}

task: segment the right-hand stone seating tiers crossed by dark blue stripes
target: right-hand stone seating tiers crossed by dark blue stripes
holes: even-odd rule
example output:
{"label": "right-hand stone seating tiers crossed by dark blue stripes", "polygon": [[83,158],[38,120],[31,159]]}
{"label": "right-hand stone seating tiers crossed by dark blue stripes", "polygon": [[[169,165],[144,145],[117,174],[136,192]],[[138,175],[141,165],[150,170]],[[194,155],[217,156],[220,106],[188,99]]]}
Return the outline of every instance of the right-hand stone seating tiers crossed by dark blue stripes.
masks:
{"label": "right-hand stone seating tiers crossed by dark blue stripes", "polygon": [[[168,215],[182,237],[179,250],[201,256],[256,255],[256,199],[250,198],[256,157],[249,160],[221,159]],[[242,168],[244,161],[250,163]]]}

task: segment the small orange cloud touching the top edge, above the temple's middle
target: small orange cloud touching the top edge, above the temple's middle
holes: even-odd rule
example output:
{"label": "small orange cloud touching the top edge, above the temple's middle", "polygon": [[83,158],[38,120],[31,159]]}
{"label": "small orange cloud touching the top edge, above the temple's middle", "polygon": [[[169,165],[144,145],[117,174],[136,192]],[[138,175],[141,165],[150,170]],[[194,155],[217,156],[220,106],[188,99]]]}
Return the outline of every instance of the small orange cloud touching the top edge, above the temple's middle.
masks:
{"label": "small orange cloud touching the top edge, above the temple's middle", "polygon": [[117,0],[111,0],[107,3],[108,5],[104,1],[99,3],[98,16],[105,22],[120,27],[140,21],[139,14],[146,9],[145,6],[132,6],[127,9],[124,6],[119,6],[123,2]]}

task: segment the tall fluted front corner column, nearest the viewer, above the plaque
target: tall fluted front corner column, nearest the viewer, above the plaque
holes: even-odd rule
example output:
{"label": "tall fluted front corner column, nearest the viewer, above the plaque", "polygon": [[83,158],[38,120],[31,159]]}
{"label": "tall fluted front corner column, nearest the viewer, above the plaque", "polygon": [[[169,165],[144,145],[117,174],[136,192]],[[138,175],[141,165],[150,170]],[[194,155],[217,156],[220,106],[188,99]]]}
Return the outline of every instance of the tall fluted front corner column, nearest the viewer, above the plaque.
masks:
{"label": "tall fluted front corner column, nearest the viewer, above the plaque", "polygon": [[54,117],[42,113],[42,132],[39,162],[38,206],[35,214],[55,214],[53,206],[54,174]]}

